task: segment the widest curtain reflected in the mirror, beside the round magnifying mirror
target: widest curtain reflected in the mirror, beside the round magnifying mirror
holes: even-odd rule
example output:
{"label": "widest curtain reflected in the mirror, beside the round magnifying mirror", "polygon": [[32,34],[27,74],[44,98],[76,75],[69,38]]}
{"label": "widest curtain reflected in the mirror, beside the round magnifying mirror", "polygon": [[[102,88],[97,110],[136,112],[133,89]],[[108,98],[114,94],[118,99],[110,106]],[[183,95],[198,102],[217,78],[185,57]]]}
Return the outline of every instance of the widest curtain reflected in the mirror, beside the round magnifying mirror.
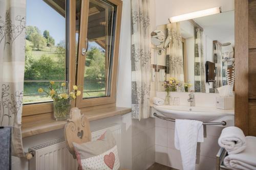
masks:
{"label": "widest curtain reflected in the mirror, beside the round magnifying mirror", "polygon": [[[167,37],[170,37],[170,43],[166,48],[167,72],[169,77],[177,78],[184,85],[184,67],[182,42],[180,32],[180,22],[167,24]],[[167,77],[168,78],[168,77]],[[184,91],[184,89],[181,89]]]}

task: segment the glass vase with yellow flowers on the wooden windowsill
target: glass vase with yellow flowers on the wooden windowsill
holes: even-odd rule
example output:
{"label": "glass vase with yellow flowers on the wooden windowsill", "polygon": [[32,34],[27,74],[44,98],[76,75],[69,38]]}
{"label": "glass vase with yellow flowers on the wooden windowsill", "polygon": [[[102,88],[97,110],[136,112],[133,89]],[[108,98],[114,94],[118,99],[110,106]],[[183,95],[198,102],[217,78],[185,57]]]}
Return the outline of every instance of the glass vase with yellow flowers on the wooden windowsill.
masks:
{"label": "glass vase with yellow flowers on the wooden windowsill", "polygon": [[69,113],[71,109],[71,100],[76,99],[81,91],[78,87],[73,86],[73,90],[68,94],[66,92],[66,83],[61,83],[60,86],[54,81],[50,81],[49,90],[44,90],[42,88],[38,89],[39,93],[45,93],[53,99],[53,115],[56,120],[66,120],[69,118]]}

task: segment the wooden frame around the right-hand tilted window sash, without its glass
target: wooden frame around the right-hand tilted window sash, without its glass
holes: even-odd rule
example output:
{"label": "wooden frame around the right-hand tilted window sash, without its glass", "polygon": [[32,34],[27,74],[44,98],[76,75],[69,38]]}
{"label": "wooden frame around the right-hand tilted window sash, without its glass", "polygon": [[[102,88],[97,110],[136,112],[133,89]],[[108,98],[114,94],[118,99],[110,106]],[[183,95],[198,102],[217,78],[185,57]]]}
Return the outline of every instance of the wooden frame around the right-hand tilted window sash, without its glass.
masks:
{"label": "wooden frame around the right-hand tilted window sash, without its glass", "polygon": [[[81,2],[82,2],[81,8],[88,9],[89,0],[81,0]],[[116,102],[117,66],[118,66],[119,41],[120,41],[120,29],[121,29],[122,1],[108,0],[108,2],[116,5],[117,7],[110,96],[83,99],[83,96],[80,95],[76,98],[76,107],[78,108],[112,104]],[[87,17],[84,17],[84,16],[87,16]],[[87,27],[88,27],[88,10],[81,10],[80,18],[84,18],[84,19],[82,21],[80,20],[77,84],[79,85],[79,90],[83,91],[83,83],[84,83],[83,79],[84,79],[84,69],[85,69],[84,63],[86,61],[86,56],[82,56],[81,51],[82,51],[82,48],[86,48],[86,44],[87,44],[86,37],[87,37]]]}

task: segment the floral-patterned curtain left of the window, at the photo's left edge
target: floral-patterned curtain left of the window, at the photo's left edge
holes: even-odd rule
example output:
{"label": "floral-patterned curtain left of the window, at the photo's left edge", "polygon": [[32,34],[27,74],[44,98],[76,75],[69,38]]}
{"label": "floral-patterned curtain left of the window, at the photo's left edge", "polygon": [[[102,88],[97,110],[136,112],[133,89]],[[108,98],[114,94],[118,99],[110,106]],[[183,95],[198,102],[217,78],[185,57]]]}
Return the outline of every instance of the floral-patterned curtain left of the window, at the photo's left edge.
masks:
{"label": "floral-patterned curtain left of the window, at the photo's left edge", "polygon": [[12,155],[24,156],[22,99],[26,0],[0,0],[0,126],[12,127]]}

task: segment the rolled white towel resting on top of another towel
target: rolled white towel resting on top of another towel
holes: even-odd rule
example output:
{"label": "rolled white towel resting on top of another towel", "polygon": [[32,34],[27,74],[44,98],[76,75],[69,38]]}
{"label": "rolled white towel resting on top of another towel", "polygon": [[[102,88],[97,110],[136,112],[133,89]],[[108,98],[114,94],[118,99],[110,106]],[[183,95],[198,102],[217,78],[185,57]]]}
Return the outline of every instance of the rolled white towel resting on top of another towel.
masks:
{"label": "rolled white towel resting on top of another towel", "polygon": [[219,137],[220,147],[225,148],[228,154],[237,154],[245,150],[246,142],[243,131],[238,127],[224,128]]}

